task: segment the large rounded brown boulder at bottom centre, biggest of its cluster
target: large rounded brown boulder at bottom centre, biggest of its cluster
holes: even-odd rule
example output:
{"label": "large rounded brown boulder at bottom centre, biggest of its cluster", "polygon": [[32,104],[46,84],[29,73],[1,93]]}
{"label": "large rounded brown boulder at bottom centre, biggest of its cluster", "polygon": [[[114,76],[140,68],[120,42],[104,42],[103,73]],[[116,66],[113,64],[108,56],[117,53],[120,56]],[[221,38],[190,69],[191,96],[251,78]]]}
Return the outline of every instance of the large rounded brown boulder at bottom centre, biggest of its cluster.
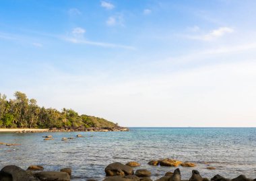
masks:
{"label": "large rounded brown boulder at bottom centre, biggest of its cluster", "polygon": [[127,176],[133,175],[133,168],[130,166],[125,166],[119,162],[115,162],[113,164],[109,164],[105,168],[106,176]]}

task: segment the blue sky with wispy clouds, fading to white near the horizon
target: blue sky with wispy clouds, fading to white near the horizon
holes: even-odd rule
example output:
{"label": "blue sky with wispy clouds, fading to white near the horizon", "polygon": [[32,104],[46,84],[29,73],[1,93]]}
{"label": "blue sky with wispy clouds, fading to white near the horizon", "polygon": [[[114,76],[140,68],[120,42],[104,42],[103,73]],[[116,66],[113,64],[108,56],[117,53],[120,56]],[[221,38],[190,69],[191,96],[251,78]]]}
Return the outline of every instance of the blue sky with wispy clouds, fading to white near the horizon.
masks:
{"label": "blue sky with wispy clouds, fading to white near the horizon", "polygon": [[121,126],[256,126],[254,0],[1,0],[0,93]]}

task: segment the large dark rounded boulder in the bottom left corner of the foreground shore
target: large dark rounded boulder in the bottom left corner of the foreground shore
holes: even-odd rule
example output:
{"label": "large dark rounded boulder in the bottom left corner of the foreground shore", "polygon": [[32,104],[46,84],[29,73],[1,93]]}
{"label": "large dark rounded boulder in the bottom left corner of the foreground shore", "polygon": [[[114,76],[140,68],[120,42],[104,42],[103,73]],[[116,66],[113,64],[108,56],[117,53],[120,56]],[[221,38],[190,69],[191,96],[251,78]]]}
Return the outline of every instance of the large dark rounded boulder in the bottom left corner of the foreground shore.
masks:
{"label": "large dark rounded boulder in the bottom left corner of the foreground shore", "polygon": [[0,180],[2,181],[40,181],[34,178],[25,170],[18,166],[5,166],[0,171]]}

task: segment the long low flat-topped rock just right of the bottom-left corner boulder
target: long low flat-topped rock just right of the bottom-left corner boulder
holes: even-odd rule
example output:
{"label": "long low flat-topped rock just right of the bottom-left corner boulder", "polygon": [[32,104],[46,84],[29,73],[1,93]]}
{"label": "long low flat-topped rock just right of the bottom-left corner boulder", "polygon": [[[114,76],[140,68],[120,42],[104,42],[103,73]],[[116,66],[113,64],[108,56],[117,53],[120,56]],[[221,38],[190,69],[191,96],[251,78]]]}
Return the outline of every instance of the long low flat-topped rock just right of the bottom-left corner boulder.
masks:
{"label": "long low flat-topped rock just right of the bottom-left corner boulder", "polygon": [[56,180],[56,181],[69,181],[70,176],[67,172],[37,172],[34,174],[40,180]]}

